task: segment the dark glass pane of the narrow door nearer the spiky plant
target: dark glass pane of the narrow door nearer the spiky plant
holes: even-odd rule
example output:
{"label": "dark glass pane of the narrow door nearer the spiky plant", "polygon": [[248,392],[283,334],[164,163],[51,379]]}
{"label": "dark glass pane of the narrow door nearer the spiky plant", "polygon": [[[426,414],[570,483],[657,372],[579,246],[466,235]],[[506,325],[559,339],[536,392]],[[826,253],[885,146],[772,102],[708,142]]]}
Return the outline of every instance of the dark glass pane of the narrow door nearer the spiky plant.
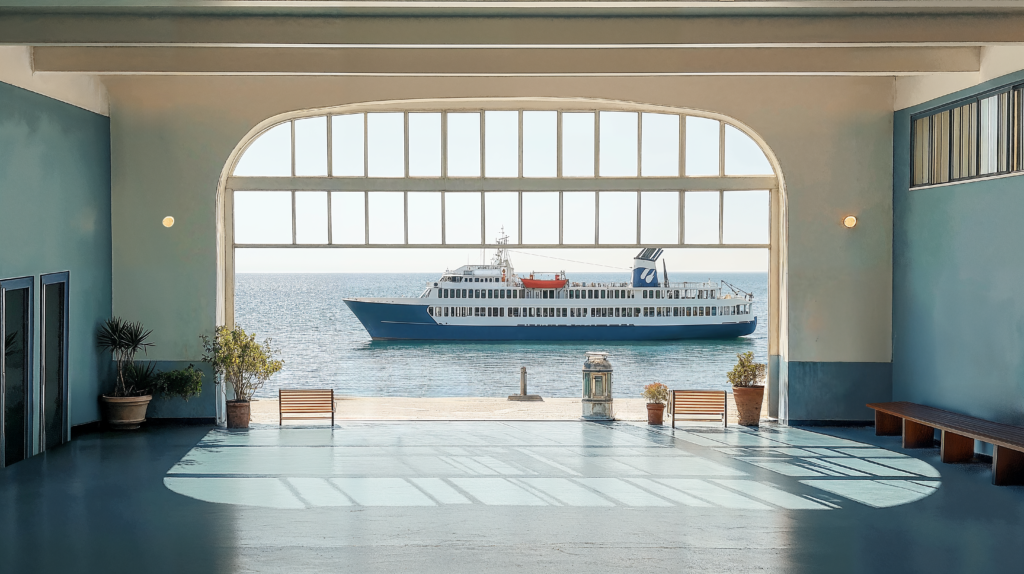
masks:
{"label": "dark glass pane of the narrow door nearer the spiky plant", "polygon": [[65,285],[43,285],[43,432],[45,447],[63,442]]}

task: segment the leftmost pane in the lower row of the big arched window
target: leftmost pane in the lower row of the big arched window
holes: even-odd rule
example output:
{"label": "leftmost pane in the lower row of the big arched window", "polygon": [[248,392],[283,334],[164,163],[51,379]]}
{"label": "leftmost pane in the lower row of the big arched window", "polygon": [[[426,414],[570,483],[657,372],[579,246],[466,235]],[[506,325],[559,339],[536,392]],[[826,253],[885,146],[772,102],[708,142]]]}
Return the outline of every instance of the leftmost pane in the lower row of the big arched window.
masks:
{"label": "leftmost pane in the lower row of the big arched window", "polygon": [[291,191],[236,191],[236,244],[291,244]]}

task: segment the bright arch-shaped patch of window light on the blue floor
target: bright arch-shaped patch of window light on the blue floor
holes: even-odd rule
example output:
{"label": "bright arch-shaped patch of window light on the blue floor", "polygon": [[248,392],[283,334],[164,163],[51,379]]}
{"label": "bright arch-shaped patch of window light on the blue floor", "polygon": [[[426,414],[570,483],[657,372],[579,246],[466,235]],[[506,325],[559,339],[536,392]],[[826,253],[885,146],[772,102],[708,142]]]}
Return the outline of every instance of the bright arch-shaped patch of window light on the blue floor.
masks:
{"label": "bright arch-shaped patch of window light on the blue floor", "polygon": [[938,477],[923,460],[793,428],[424,422],[213,430],[164,484],[199,500],[273,509],[828,511],[906,504],[935,492]]}

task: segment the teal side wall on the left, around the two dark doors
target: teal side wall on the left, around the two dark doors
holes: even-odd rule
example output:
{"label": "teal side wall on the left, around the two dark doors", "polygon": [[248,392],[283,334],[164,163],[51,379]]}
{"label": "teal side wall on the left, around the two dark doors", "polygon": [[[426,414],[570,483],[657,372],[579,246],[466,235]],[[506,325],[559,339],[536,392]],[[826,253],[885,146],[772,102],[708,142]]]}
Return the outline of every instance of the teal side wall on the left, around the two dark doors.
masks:
{"label": "teal side wall on the left, around the two dark doors", "polygon": [[[0,83],[0,278],[70,271],[71,424],[97,421],[110,356],[95,347],[111,315],[110,120]],[[35,376],[39,377],[37,324]]]}

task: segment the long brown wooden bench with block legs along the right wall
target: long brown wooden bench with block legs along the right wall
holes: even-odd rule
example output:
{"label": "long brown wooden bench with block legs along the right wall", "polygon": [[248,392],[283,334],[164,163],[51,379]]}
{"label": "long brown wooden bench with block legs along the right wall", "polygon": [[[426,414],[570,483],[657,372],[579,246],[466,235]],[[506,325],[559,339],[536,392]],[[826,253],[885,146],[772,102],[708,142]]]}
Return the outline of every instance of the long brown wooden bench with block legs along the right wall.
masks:
{"label": "long brown wooden bench with block legs along the right wall", "polygon": [[935,445],[935,430],[941,431],[943,462],[966,462],[974,458],[974,441],[992,445],[992,484],[1024,484],[1024,428],[992,423],[912,402],[882,402],[874,409],[874,434],[903,436],[903,448]]}

